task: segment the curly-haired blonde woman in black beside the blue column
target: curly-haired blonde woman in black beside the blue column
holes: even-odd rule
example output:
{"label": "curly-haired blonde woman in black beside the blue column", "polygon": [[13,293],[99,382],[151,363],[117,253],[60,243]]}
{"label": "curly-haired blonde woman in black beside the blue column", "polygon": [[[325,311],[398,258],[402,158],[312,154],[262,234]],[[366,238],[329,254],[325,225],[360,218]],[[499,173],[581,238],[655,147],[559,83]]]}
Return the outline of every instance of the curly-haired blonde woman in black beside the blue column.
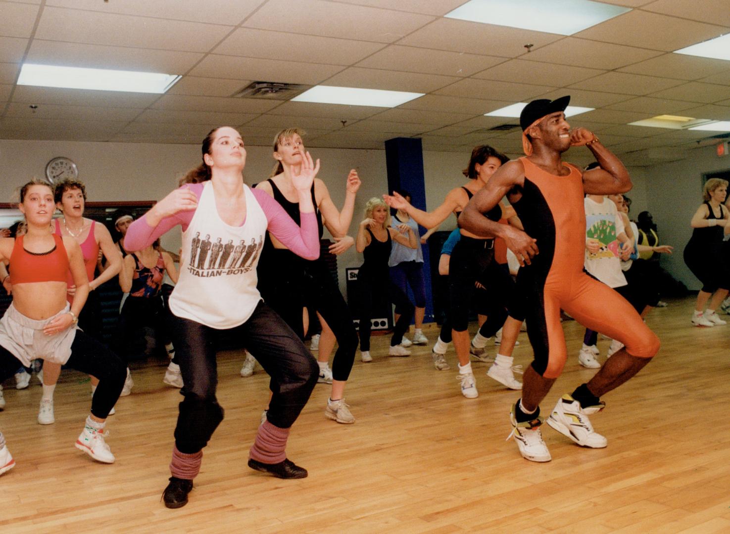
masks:
{"label": "curly-haired blonde woman in black beside the blue column", "polygon": [[364,362],[372,361],[370,328],[372,328],[374,303],[383,301],[388,303],[388,306],[385,306],[388,315],[391,313],[391,302],[403,312],[393,328],[388,356],[410,356],[410,352],[401,347],[401,341],[403,341],[403,334],[408,330],[415,307],[403,290],[391,281],[388,268],[388,259],[391,257],[391,240],[398,241],[412,249],[418,246],[412,228],[407,228],[406,233],[403,234],[391,227],[388,206],[381,198],[373,197],[365,205],[365,219],[360,223],[355,241],[357,251],[362,252],[365,258],[365,262],[358,271],[360,352]]}

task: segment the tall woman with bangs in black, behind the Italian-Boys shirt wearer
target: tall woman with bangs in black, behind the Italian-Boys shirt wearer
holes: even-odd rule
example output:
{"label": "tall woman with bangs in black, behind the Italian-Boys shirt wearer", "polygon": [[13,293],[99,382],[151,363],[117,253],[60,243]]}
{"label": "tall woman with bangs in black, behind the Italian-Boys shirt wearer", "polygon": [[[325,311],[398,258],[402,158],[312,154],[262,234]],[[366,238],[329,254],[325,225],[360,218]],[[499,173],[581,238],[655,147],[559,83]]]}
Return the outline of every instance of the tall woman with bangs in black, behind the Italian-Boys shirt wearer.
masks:
{"label": "tall woman with bangs in black, behind the Italian-Boys shirt wearer", "polygon": [[[296,128],[280,131],[274,137],[274,159],[277,160],[272,177],[255,187],[263,189],[299,222],[299,203],[296,192],[291,185],[291,175],[299,171],[304,157],[304,144],[301,132]],[[319,236],[323,227],[337,241],[330,247],[330,252],[340,254],[353,245],[353,239],[347,236],[353,219],[355,196],[360,187],[357,171],[350,171],[347,177],[345,204],[340,212],[332,202],[327,186],[322,180],[315,178],[312,184],[312,202],[317,214]],[[291,200],[290,200],[291,199]],[[304,260],[293,252],[283,248],[275,238],[267,234],[264,251],[258,263],[258,290],[264,301],[304,339],[306,333],[303,321],[305,306],[312,306],[322,323],[320,336],[318,382],[332,384],[331,396],[325,409],[325,417],[339,423],[353,423],[355,417],[350,414],[343,395],[345,383],[355,360],[358,339],[347,308],[345,298],[339,292],[337,282],[332,278],[326,260],[320,256],[318,260]],[[332,368],[328,366],[328,357],[337,340]]]}

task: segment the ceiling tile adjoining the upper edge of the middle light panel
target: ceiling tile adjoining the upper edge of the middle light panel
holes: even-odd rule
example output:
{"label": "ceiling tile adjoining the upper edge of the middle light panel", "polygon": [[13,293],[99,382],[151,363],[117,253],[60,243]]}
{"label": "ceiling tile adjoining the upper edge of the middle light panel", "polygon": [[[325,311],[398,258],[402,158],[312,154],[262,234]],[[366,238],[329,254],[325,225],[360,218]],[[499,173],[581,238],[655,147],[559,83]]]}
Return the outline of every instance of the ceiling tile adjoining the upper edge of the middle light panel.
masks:
{"label": "ceiling tile adjoining the upper edge of the middle light panel", "polygon": [[431,91],[442,88],[445,85],[450,85],[458,80],[461,80],[461,78],[439,76],[437,74],[420,74],[417,72],[349,67],[335,74],[325,82],[325,85],[408,91],[410,93],[431,93]]}

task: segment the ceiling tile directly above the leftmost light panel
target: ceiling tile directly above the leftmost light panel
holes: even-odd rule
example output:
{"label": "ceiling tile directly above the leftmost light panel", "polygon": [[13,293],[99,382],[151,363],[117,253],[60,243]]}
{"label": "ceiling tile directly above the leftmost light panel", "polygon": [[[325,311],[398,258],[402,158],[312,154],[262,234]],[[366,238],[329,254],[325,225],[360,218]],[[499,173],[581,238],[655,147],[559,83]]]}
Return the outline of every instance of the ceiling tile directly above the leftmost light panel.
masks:
{"label": "ceiling tile directly above the leftmost light panel", "polygon": [[45,41],[33,39],[29,63],[79,66],[89,69],[139,70],[185,74],[203,57],[201,53],[173,50],[140,50],[103,44]]}

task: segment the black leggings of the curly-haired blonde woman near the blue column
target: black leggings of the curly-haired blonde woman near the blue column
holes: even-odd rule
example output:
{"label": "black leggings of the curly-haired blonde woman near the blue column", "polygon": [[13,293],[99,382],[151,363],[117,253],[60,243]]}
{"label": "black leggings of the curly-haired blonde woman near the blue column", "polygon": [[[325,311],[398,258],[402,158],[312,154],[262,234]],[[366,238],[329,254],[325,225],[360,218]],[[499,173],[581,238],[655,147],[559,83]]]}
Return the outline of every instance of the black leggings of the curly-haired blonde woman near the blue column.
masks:
{"label": "black leggings of the curly-haired blonde woman near the blue column", "polygon": [[[391,347],[401,344],[403,336],[410,326],[410,320],[415,312],[415,306],[408,299],[403,290],[391,281],[388,271],[383,271],[380,276],[369,273],[361,268],[358,273],[358,289],[360,295],[360,350],[370,350],[370,329],[375,304],[380,302],[393,303],[400,310],[401,316],[393,328]],[[391,314],[391,306],[387,306],[388,315]]]}

